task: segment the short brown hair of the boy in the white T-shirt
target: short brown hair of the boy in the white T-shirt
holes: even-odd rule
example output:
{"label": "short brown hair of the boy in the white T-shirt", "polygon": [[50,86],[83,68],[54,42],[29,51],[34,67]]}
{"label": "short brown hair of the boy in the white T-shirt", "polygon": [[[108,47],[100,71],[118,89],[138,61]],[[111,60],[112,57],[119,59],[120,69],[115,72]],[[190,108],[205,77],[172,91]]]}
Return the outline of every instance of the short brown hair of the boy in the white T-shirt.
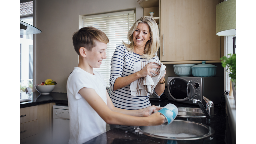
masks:
{"label": "short brown hair of the boy in the white T-shirt", "polygon": [[108,43],[108,37],[104,32],[95,27],[83,27],[73,34],[73,45],[75,51],[80,55],[80,47],[86,48],[88,51],[92,51],[92,48],[95,47],[95,40],[99,42]]}

